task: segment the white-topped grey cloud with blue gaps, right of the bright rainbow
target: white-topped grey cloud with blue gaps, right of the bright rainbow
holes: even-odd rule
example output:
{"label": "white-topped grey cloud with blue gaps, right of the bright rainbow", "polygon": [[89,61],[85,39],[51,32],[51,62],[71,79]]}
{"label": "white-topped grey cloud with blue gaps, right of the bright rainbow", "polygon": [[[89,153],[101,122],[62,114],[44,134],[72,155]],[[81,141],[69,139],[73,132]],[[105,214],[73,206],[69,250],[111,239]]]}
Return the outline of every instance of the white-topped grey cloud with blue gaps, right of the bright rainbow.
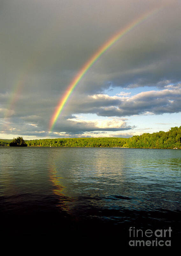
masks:
{"label": "white-topped grey cloud with blue gaps, right of the bright rainbow", "polygon": [[82,113],[98,116],[156,115],[180,112],[180,101],[181,88],[140,92],[129,97],[99,93],[88,96],[80,109]]}

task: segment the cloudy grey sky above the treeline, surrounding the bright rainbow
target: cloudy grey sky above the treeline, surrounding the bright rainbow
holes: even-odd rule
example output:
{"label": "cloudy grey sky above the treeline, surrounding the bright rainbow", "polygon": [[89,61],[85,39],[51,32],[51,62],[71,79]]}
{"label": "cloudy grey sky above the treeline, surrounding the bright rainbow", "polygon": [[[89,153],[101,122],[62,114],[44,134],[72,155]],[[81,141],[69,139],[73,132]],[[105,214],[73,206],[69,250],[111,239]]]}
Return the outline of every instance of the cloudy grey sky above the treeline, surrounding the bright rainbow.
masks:
{"label": "cloudy grey sky above the treeline, surrounding the bright rainbow", "polygon": [[[0,0],[0,138],[128,138],[180,126],[180,12],[179,0]],[[82,76],[50,129],[82,67],[144,14]]]}

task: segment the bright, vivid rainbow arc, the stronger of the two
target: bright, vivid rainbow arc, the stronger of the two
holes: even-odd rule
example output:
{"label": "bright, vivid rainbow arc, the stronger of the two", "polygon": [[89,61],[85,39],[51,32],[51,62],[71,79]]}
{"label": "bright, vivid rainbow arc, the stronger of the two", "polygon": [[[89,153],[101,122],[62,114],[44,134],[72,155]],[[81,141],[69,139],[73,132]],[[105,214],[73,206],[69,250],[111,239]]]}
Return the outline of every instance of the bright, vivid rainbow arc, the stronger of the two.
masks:
{"label": "bright, vivid rainbow arc, the stronger of the two", "polygon": [[118,41],[120,38],[122,38],[125,34],[127,34],[130,30],[132,30],[134,27],[136,27],[138,24],[140,24],[142,21],[146,20],[151,15],[158,12],[160,8],[154,8],[149,12],[144,13],[136,20],[132,21],[130,24],[128,24],[125,28],[121,29],[116,35],[111,37],[105,44],[103,44],[98,51],[89,59],[85,65],[80,69],[78,74],[74,77],[72,82],[69,84],[67,90],[65,91],[64,95],[61,97],[61,100],[59,101],[57,107],[55,108],[54,114],[50,120],[49,124],[49,131],[53,129],[58,117],[60,116],[67,100],[69,99],[70,95],[76,88],[79,81],[82,79],[82,77],[87,73],[87,71],[91,68],[91,66],[98,60],[105,51],[107,51],[116,41]]}

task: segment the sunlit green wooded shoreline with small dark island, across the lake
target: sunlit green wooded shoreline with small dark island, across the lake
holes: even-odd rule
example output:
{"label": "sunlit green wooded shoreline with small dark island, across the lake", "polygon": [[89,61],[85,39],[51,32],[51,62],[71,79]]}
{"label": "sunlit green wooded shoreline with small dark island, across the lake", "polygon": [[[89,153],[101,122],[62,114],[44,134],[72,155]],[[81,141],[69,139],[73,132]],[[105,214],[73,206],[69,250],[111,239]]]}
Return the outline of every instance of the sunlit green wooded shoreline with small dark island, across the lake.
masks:
{"label": "sunlit green wooded shoreline with small dark island, across the lake", "polygon": [[[8,140],[0,140],[0,145],[8,145]],[[26,140],[13,139],[14,147],[120,147],[120,148],[181,148],[181,126],[172,127],[168,132],[143,133],[131,138],[58,138]]]}

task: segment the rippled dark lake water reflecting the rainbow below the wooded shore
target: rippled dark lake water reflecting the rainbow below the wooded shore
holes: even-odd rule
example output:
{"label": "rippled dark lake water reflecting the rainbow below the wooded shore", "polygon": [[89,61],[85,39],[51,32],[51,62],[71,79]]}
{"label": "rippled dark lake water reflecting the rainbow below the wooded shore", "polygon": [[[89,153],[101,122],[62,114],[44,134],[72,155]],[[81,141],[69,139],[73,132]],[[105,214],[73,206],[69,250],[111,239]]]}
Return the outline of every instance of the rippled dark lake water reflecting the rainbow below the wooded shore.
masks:
{"label": "rippled dark lake water reflecting the rainbow below the wooded shore", "polygon": [[181,150],[0,147],[0,232],[114,237],[128,246],[130,227],[171,227],[163,241],[176,246],[180,189]]}

